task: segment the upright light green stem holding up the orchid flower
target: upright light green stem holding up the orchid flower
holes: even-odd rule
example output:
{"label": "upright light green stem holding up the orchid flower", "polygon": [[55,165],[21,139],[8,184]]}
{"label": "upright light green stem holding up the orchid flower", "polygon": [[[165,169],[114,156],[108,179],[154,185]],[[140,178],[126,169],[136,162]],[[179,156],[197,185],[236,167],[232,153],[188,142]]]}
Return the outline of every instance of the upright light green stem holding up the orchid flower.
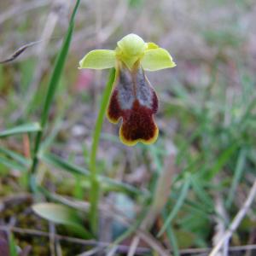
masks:
{"label": "upright light green stem holding up the orchid flower", "polygon": [[104,115],[106,113],[106,109],[108,107],[109,97],[111,95],[113,81],[115,77],[115,69],[112,68],[109,72],[108,84],[105,87],[102,96],[102,104],[100,111],[98,113],[98,117],[96,119],[95,131],[93,134],[93,141],[90,150],[90,225],[91,230],[94,234],[97,233],[97,223],[98,223],[98,201],[99,201],[99,181],[97,175],[96,168],[96,154],[97,149],[102,133],[102,124],[104,120]]}

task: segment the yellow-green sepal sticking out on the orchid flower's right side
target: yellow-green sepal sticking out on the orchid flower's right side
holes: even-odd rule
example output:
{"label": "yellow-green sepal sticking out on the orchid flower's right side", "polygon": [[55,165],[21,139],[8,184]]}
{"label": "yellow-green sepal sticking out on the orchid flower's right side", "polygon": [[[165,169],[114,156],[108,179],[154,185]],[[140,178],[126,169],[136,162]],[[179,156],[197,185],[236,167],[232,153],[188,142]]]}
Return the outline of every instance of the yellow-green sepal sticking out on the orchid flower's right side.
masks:
{"label": "yellow-green sepal sticking out on the orchid flower's right side", "polygon": [[[151,48],[155,46],[150,44]],[[156,71],[168,67],[175,67],[176,64],[172,61],[172,56],[166,49],[148,49],[142,59],[142,65],[145,70]]]}

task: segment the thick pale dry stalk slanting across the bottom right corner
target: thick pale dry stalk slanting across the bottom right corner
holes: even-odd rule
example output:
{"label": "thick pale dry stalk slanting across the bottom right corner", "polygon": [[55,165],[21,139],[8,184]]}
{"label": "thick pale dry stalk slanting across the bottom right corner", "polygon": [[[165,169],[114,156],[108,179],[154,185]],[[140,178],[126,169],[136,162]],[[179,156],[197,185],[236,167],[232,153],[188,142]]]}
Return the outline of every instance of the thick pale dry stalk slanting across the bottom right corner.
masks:
{"label": "thick pale dry stalk slanting across the bottom right corner", "polygon": [[216,256],[219,249],[224,245],[224,243],[230,240],[230,237],[232,236],[234,231],[237,229],[237,227],[241,223],[241,220],[247,214],[249,207],[251,206],[251,204],[253,203],[253,200],[255,199],[255,195],[256,195],[256,179],[253,183],[252,189],[249,192],[249,195],[247,196],[247,201],[245,201],[240,211],[237,212],[236,217],[233,219],[232,223],[230,224],[230,228],[225,231],[224,236],[218,241],[218,244],[215,247],[213,247],[209,256]]}

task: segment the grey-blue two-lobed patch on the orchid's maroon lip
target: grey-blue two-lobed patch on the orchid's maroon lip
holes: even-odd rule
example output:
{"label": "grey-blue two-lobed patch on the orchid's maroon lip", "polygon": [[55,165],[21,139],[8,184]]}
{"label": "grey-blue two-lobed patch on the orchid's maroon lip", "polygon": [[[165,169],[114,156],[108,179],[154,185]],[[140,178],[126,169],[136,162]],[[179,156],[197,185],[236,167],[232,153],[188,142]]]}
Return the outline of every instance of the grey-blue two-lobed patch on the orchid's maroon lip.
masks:
{"label": "grey-blue two-lobed patch on the orchid's maroon lip", "polygon": [[118,89],[118,100],[122,109],[131,109],[136,98],[142,106],[152,108],[153,91],[142,67],[138,68],[134,80],[128,68],[120,68]]}

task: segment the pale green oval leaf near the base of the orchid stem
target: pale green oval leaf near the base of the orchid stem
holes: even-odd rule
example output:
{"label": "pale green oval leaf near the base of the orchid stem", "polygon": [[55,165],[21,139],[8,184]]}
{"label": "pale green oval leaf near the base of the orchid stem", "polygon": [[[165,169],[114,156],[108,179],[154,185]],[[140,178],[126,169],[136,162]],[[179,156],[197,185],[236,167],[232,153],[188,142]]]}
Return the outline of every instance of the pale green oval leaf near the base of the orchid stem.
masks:
{"label": "pale green oval leaf near the base of the orchid stem", "polygon": [[70,207],[55,203],[38,203],[32,206],[32,210],[40,217],[55,224],[66,225],[81,237],[91,237],[88,231],[84,229],[83,221],[78,213]]}

